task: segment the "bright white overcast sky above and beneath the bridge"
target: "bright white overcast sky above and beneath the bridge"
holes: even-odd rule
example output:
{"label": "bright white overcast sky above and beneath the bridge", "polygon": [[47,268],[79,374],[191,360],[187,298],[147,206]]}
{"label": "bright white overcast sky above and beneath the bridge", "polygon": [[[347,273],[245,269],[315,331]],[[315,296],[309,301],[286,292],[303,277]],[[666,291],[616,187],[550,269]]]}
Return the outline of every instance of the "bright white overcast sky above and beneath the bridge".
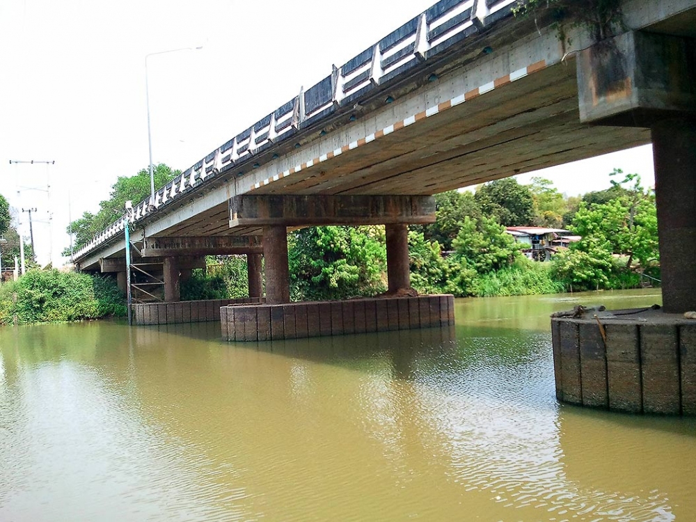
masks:
{"label": "bright white overcast sky above and beneath the bridge", "polygon": [[[203,45],[148,61],[153,161],[184,170],[434,1],[1,0],[0,193],[39,221],[52,208],[58,264],[69,196],[76,219],[148,165],[146,54]],[[9,163],[31,159],[56,163]],[[649,146],[539,174],[576,195],[614,167],[653,183]],[[17,192],[47,175],[50,202]],[[45,263],[48,226],[34,237]]]}

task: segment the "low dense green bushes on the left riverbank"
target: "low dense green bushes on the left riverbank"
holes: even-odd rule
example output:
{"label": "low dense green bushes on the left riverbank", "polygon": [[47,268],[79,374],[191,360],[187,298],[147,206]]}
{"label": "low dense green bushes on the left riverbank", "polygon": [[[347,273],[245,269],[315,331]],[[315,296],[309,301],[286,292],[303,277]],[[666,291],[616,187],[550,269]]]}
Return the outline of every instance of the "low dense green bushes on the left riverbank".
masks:
{"label": "low dense green bushes on the left riverbank", "polygon": [[[16,299],[15,299],[16,296]],[[113,280],[58,270],[32,270],[0,286],[0,323],[79,321],[123,316],[125,301]]]}

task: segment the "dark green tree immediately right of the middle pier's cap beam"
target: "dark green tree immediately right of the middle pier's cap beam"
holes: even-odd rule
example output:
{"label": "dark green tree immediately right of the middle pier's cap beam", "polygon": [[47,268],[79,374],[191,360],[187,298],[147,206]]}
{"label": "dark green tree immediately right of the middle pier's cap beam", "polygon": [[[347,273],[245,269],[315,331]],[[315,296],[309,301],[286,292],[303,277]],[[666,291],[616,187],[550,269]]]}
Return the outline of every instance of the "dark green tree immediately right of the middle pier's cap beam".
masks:
{"label": "dark green tree immediately right of the middle pier's cap beam", "polygon": [[412,226],[414,232],[422,232],[425,241],[438,242],[443,250],[452,250],[452,239],[457,237],[465,216],[478,219],[481,209],[470,192],[450,190],[435,194],[435,223]]}

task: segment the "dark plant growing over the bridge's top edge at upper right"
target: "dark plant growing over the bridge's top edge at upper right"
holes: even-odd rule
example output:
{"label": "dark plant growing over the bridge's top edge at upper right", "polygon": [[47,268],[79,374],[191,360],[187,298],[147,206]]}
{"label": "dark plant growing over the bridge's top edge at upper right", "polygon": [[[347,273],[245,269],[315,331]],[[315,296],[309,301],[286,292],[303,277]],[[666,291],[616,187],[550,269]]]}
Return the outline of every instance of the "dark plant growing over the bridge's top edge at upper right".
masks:
{"label": "dark plant growing over the bridge's top edge at upper right", "polygon": [[621,0],[518,0],[512,10],[521,17],[550,16],[561,40],[566,39],[563,22],[585,27],[596,42],[611,38],[624,26]]}

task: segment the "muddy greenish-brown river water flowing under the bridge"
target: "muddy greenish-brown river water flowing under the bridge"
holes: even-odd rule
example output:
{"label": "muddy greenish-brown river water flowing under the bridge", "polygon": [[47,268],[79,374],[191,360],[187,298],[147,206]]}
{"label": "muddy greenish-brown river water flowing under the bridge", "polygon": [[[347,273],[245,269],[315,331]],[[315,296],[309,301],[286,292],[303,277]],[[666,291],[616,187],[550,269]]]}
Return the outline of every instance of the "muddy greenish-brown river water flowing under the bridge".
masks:
{"label": "muddy greenish-brown river water flowing under the bridge", "polygon": [[695,521],[696,420],[555,401],[548,315],[260,344],[219,324],[0,329],[1,521]]}

